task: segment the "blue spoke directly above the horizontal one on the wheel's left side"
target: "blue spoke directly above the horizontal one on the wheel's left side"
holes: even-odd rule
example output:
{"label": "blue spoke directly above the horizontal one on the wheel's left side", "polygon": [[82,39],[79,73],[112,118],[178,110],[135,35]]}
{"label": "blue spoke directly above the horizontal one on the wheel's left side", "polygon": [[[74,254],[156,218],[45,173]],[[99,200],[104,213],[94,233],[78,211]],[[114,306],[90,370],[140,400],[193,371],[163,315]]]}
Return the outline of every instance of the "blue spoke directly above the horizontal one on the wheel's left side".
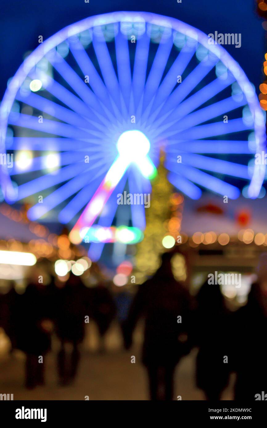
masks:
{"label": "blue spoke directly above the horizontal one on the wheel's left side", "polygon": [[43,122],[39,123],[38,117],[29,116],[27,114],[18,113],[17,115],[9,116],[9,124],[20,126],[21,128],[29,128],[39,132],[44,132],[47,134],[60,135],[60,137],[76,138],[76,139],[86,139],[90,136],[102,138],[102,133],[99,131],[90,130],[90,133],[83,131],[82,129],[75,128],[72,125],[67,125],[62,122],[56,122],[54,120],[45,119]]}

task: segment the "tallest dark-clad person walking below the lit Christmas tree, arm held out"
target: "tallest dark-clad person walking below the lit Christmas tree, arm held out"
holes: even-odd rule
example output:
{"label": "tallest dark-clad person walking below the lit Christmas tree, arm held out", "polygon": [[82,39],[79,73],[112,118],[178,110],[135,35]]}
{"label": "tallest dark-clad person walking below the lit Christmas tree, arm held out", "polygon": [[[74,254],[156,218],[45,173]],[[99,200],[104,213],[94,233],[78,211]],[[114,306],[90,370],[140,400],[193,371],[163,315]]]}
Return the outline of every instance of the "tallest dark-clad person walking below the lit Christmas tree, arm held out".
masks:
{"label": "tallest dark-clad person walking below the lit Christmas tree, arm held out", "polygon": [[147,369],[151,400],[173,399],[174,370],[189,352],[189,294],[171,271],[171,253],[162,255],[162,265],[153,278],[139,285],[124,325],[126,349],[138,319],[144,316],[142,362]]}

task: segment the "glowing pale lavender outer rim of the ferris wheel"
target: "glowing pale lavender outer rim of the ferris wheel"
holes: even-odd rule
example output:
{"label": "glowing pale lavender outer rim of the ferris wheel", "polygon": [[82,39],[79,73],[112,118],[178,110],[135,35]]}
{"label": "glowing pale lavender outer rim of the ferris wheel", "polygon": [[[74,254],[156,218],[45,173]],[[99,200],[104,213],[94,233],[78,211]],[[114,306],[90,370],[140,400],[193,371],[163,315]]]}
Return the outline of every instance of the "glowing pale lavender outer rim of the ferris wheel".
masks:
{"label": "glowing pale lavender outer rim of the ferris wheel", "polygon": [[[77,33],[80,33],[84,30],[90,28],[115,24],[117,22],[127,21],[126,18],[134,18],[138,22],[138,18],[141,18],[141,21],[149,24],[159,25],[161,27],[171,27],[171,29],[178,31],[184,35],[190,36],[193,39],[196,39],[201,45],[207,48],[208,51],[214,53],[219,57],[219,60],[228,68],[228,70],[233,74],[235,80],[240,85],[243,94],[246,96],[247,104],[252,113],[253,117],[253,129],[255,131],[255,140],[256,140],[256,150],[261,152],[265,149],[264,143],[266,141],[265,135],[265,122],[264,114],[261,110],[261,107],[258,102],[258,98],[255,94],[255,91],[251,93],[249,89],[251,88],[251,83],[249,82],[245,72],[240,67],[240,65],[232,58],[232,56],[226,51],[222,45],[210,45],[208,44],[207,35],[199,30],[196,27],[186,24],[183,21],[180,21],[176,18],[168,17],[165,15],[158,15],[151,12],[109,12],[106,14],[94,15],[91,17],[84,18],[80,21],[77,21],[73,24],[70,24],[63,29],[59,30],[57,33],[50,36],[44,42],[40,44],[29,56],[22,62],[15,75],[12,77],[0,105],[0,145],[1,148],[5,149],[5,139],[6,139],[6,129],[8,125],[8,117],[11,111],[13,102],[15,101],[16,94],[21,84],[24,82],[27,75],[30,73],[32,68],[40,61],[40,59],[45,56],[46,53],[51,51],[60,43],[64,42],[70,36],[74,36]],[[171,24],[171,25],[170,25]],[[255,165],[253,170],[253,175],[249,183],[249,196],[257,197],[261,189],[261,185],[264,181],[265,175],[265,165]],[[9,181],[11,185],[10,176],[6,175],[5,179]],[[4,196],[6,198],[5,192]]]}

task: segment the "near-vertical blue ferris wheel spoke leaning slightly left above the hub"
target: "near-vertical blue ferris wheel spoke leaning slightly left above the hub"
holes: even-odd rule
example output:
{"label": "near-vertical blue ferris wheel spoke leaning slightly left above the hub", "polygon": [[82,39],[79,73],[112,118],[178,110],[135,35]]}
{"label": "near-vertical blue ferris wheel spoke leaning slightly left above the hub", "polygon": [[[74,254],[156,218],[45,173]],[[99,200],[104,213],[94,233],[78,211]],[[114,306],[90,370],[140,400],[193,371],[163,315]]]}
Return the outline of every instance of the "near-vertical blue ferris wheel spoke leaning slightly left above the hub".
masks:
{"label": "near-vertical blue ferris wheel spoke leaning slightly left above the hub", "polygon": [[123,37],[123,34],[120,31],[115,37],[115,49],[120,89],[124,97],[127,111],[129,111],[129,101],[132,85],[129,47],[128,40]]}

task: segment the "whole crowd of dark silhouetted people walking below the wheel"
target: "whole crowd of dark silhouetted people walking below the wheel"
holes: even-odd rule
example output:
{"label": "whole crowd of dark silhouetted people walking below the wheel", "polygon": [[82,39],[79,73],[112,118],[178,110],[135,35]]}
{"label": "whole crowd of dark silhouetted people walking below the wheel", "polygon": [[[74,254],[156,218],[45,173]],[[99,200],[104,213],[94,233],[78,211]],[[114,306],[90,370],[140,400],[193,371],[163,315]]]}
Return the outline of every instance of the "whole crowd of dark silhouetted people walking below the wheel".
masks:
{"label": "whole crowd of dark silhouetted people walking below the wheel", "polygon": [[[88,317],[95,320],[100,338],[117,318],[126,349],[131,347],[133,332],[142,318],[142,363],[151,400],[173,399],[177,364],[195,347],[196,386],[207,400],[221,398],[231,372],[236,373],[235,400],[255,400],[256,394],[267,391],[267,253],[261,255],[258,281],[252,284],[246,305],[234,312],[225,305],[219,285],[208,281],[192,297],[183,283],[174,279],[171,256],[163,254],[159,270],[136,286],[133,298],[123,290],[114,296],[101,283],[86,287],[73,274],[65,283],[51,280],[43,285],[37,268],[32,270],[23,294],[14,287],[2,294],[0,327],[9,336],[12,349],[26,354],[25,386],[44,384],[52,331],[59,342],[57,373],[64,386],[77,374]],[[68,343],[71,352],[66,351]]]}

